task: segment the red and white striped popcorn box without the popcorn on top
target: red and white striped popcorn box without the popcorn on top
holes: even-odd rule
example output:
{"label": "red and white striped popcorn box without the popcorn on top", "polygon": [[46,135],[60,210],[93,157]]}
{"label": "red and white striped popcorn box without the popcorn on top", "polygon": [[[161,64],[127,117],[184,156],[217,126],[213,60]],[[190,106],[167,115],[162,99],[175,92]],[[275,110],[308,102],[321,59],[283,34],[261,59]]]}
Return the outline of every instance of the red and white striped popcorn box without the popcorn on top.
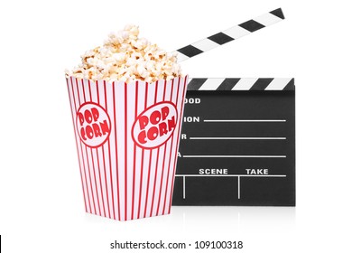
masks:
{"label": "red and white striped popcorn box without the popcorn on top", "polygon": [[86,212],[114,220],[170,213],[187,79],[67,78]]}

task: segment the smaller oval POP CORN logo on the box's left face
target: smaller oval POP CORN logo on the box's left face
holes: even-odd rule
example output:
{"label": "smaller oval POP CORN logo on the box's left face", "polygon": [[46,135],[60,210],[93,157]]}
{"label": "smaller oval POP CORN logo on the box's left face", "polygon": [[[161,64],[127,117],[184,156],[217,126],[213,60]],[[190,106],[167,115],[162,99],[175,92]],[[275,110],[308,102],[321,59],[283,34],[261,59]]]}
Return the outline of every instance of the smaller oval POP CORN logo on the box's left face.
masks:
{"label": "smaller oval POP CORN logo on the box's left face", "polygon": [[82,104],[77,111],[76,127],[81,141],[89,147],[103,145],[111,132],[110,117],[105,108],[94,102]]}

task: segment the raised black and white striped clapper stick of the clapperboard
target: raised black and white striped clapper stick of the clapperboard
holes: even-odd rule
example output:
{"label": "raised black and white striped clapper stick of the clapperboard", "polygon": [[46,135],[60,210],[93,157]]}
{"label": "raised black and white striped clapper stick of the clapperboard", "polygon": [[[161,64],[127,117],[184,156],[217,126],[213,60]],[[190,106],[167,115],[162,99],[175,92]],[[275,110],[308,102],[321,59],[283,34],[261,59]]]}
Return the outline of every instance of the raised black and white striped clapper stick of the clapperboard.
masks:
{"label": "raised black and white striped clapper stick of the clapperboard", "polygon": [[202,52],[207,52],[222,44],[232,42],[247,34],[254,33],[255,31],[258,31],[273,23],[283,21],[283,19],[283,10],[279,8],[274,10],[273,12],[258,16],[255,19],[248,20],[245,23],[240,23],[221,33],[216,33],[199,42],[191,43],[190,45],[177,50],[176,52],[178,52],[178,61],[185,61]]}

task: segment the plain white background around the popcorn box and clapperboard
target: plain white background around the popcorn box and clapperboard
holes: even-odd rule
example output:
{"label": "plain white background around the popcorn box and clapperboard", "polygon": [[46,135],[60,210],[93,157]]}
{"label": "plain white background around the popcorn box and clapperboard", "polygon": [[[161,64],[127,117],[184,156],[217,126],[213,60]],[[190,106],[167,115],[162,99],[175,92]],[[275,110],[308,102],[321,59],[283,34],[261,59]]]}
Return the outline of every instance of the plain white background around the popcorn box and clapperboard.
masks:
{"label": "plain white background around the popcorn box and clapperboard", "polygon": [[[115,239],[241,239],[242,252],[351,252],[349,1],[0,5],[4,252],[113,252],[109,243]],[[139,24],[142,36],[173,51],[277,7],[283,7],[285,21],[185,61],[182,68],[191,77],[296,79],[297,207],[174,207],[168,216],[127,222],[85,214],[63,70],[125,23]]]}

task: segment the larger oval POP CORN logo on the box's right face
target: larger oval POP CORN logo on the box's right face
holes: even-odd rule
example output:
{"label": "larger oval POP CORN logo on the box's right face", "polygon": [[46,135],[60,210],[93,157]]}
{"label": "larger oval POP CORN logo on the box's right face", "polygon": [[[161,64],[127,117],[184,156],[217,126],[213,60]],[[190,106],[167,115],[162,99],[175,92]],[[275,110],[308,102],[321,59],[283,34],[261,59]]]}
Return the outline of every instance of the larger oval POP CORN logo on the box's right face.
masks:
{"label": "larger oval POP CORN logo on the box's right face", "polygon": [[146,108],[132,126],[134,143],[147,149],[163,145],[172,136],[177,118],[177,108],[171,102],[160,102]]}

